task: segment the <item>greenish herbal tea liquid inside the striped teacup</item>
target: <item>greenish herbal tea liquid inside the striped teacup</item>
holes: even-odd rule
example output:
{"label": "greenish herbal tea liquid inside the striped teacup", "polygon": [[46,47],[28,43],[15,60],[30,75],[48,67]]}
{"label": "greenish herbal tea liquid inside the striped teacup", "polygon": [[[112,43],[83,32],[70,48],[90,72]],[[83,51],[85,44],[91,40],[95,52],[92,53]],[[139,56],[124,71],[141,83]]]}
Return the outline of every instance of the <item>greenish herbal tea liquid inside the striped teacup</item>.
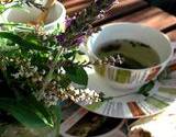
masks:
{"label": "greenish herbal tea liquid inside the striped teacup", "polygon": [[161,62],[160,56],[150,45],[136,41],[116,39],[98,47],[96,56],[108,59],[116,67],[144,69]]}

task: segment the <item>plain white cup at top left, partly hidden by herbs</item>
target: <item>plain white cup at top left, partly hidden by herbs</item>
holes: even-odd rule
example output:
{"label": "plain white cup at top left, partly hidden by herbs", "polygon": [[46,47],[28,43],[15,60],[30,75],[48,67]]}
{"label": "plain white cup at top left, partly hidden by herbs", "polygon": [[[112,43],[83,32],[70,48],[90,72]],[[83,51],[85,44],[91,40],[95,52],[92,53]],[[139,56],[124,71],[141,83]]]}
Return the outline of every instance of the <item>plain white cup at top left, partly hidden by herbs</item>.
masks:
{"label": "plain white cup at top left, partly hidden by herbs", "polygon": [[[9,9],[2,14],[4,22],[14,23],[30,23],[36,21],[41,14],[41,10],[34,7],[25,5],[23,9]],[[47,33],[53,32],[57,25],[61,26],[61,31],[65,30],[66,9],[61,2],[56,2],[48,12],[47,19],[44,23],[44,30]]]}

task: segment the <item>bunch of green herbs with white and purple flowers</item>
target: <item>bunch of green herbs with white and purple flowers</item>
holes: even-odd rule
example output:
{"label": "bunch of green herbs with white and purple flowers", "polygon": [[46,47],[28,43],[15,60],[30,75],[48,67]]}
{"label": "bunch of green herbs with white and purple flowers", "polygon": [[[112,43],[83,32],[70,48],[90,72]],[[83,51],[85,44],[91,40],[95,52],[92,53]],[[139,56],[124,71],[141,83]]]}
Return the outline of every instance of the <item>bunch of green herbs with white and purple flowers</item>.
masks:
{"label": "bunch of green herbs with white and purple flowers", "polygon": [[[98,28],[91,23],[103,18],[111,0],[94,1],[91,7],[66,19],[65,33],[59,26],[52,34],[43,27],[21,23],[1,23],[0,27],[0,116],[9,115],[26,127],[51,127],[58,135],[61,123],[59,102],[65,98],[78,99],[72,83],[84,89],[88,82],[80,61],[79,44]],[[35,0],[14,0],[0,4],[0,12],[24,4],[45,10]],[[102,11],[105,9],[105,11]],[[2,88],[3,84],[7,88]],[[69,95],[68,95],[69,92]],[[99,101],[98,95],[91,96]],[[57,136],[56,135],[56,136]]]}

